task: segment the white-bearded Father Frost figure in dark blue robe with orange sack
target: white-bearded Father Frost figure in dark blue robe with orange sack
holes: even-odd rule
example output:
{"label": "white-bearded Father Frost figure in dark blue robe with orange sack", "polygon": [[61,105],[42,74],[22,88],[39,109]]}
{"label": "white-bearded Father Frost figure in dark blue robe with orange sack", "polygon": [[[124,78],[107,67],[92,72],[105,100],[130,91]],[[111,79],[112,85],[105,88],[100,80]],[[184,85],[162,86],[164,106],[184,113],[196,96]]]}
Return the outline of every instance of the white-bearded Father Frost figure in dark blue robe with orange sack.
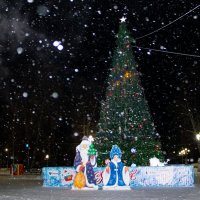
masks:
{"label": "white-bearded Father Frost figure in dark blue robe with orange sack", "polygon": [[[73,189],[76,189],[76,187],[81,189],[85,186],[89,188],[98,189],[98,186],[96,185],[94,170],[93,170],[93,167],[97,166],[96,151],[95,151],[95,155],[94,154],[91,155],[91,152],[88,152],[90,149],[90,145],[91,145],[91,140],[89,140],[86,136],[84,136],[80,145],[76,147],[74,167],[77,171],[77,174],[81,174],[80,177],[82,177],[85,180],[76,180],[76,177],[75,177]],[[94,152],[94,149],[92,149],[92,152]],[[84,177],[83,177],[83,174],[84,174]],[[81,185],[81,182],[83,183],[82,185]]]}

